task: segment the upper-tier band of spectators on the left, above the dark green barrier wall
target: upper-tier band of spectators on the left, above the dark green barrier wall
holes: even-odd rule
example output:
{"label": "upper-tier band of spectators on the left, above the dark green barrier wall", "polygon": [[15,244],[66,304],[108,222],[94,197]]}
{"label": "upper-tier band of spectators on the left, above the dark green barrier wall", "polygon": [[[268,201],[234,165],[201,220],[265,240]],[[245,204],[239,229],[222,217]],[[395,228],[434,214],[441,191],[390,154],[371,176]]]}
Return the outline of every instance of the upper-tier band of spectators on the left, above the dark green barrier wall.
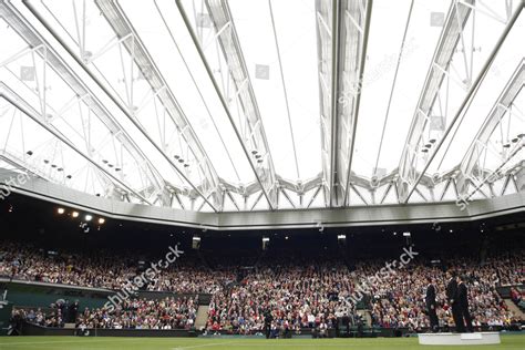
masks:
{"label": "upper-tier band of spectators on the left, above the dark green barrier wall", "polygon": [[[0,246],[0,277],[120,290],[140,274],[136,259],[125,255],[115,256],[99,251],[96,255],[55,256],[8,243]],[[210,274],[195,261],[185,259],[183,265],[173,264],[156,274],[144,288],[178,294],[214,294],[234,279],[235,274],[230,271]]]}

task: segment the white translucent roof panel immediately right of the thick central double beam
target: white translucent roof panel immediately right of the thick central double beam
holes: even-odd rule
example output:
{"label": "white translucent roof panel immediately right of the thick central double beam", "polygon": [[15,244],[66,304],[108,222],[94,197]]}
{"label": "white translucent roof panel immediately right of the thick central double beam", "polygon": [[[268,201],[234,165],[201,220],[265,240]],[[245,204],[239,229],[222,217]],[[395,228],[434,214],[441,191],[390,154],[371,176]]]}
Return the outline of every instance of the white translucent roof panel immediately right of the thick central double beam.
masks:
{"label": "white translucent roof panel immediately right of the thick central double beam", "polygon": [[415,104],[442,30],[441,27],[431,25],[431,17],[434,12],[446,14],[450,1],[414,1],[387,120],[410,4],[409,0],[373,2],[352,161],[352,171],[368,177],[373,175],[375,163],[378,168],[384,168],[387,173],[399,165]]}

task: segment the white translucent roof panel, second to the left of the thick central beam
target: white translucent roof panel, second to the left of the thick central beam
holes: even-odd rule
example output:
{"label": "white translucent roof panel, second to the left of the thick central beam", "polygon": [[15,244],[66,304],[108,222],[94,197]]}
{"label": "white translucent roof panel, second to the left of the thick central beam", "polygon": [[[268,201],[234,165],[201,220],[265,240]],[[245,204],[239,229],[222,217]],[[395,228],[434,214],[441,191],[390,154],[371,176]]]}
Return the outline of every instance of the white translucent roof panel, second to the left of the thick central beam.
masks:
{"label": "white translucent roof panel, second to the left of the thick central beam", "polygon": [[199,135],[219,176],[233,183],[254,181],[254,173],[175,3],[121,4]]}

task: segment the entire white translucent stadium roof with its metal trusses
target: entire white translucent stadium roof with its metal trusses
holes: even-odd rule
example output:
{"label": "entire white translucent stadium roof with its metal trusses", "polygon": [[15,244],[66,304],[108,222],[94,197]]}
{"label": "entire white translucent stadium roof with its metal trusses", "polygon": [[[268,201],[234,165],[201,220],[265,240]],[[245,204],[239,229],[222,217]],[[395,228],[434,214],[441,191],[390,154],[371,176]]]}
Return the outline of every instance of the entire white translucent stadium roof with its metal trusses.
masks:
{"label": "entire white translucent stadium roof with its metal trusses", "polygon": [[523,7],[0,0],[0,166],[203,212],[515,193]]}

